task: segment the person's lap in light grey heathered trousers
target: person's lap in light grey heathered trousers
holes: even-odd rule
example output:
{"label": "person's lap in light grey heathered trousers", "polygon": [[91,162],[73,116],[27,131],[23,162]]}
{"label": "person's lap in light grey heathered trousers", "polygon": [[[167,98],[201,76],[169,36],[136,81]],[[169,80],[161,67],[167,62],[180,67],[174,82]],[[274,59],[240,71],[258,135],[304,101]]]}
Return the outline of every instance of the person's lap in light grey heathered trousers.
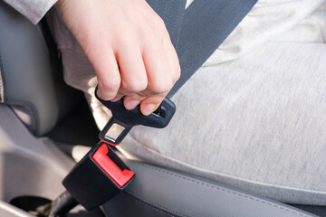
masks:
{"label": "person's lap in light grey heathered trousers", "polygon": [[325,205],[325,49],[269,42],[202,67],[173,97],[167,128],[137,127],[121,147],[283,202]]}

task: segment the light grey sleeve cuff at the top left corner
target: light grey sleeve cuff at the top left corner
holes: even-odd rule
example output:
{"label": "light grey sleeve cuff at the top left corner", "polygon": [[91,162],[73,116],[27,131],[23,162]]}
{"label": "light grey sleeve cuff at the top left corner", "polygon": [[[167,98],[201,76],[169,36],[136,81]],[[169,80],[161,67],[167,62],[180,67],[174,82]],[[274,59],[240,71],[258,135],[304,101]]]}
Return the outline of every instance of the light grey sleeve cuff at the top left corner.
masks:
{"label": "light grey sleeve cuff at the top left corner", "polygon": [[18,12],[37,24],[57,0],[4,0]]}

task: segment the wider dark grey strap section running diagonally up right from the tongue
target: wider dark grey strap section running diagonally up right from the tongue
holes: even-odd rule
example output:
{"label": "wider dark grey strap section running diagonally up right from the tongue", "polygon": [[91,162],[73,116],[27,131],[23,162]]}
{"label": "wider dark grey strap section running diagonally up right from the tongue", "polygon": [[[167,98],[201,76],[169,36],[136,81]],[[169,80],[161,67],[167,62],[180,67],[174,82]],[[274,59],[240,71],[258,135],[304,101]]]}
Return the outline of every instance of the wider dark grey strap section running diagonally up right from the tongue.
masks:
{"label": "wider dark grey strap section running diagonally up right from the tongue", "polygon": [[171,98],[235,29],[257,0],[195,0],[183,15],[177,40],[181,77]]}

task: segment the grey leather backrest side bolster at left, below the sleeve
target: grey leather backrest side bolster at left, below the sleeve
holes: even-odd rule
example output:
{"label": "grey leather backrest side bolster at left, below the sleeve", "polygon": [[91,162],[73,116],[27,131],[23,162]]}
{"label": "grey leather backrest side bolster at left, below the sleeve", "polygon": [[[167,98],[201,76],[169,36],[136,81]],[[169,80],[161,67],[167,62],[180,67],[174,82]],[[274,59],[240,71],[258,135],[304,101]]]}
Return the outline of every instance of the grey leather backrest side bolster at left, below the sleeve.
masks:
{"label": "grey leather backrest side bolster at left, below the sleeve", "polygon": [[36,117],[32,131],[41,136],[53,128],[59,113],[43,35],[38,26],[3,1],[0,1],[0,29],[1,100],[9,105],[18,102],[32,105]]}

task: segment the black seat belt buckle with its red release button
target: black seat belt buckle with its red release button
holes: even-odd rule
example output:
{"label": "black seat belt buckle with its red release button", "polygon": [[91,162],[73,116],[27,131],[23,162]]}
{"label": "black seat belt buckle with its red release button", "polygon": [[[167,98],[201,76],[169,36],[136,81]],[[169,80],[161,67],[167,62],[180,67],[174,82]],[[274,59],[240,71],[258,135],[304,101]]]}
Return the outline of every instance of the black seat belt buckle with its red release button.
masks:
{"label": "black seat belt buckle with its red release button", "polygon": [[120,193],[134,177],[112,148],[100,142],[72,168],[62,184],[86,210],[92,210]]}

